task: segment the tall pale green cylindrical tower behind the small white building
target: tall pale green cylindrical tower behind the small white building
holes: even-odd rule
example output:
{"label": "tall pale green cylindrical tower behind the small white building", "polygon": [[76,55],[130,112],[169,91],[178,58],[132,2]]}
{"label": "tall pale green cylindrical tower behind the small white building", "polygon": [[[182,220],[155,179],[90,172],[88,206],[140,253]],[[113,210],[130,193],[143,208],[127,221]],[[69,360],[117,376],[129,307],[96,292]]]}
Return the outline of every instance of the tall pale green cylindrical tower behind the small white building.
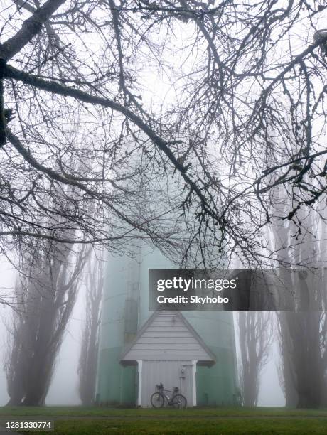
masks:
{"label": "tall pale green cylindrical tower behind the small white building", "polygon": [[[174,267],[159,249],[147,245],[136,245],[130,257],[109,255],[100,324],[97,403],[136,405],[137,366],[123,366],[120,359],[153,313],[149,311],[149,269]],[[188,311],[182,315],[216,360],[211,367],[197,367],[197,405],[237,404],[239,387],[232,313]]]}

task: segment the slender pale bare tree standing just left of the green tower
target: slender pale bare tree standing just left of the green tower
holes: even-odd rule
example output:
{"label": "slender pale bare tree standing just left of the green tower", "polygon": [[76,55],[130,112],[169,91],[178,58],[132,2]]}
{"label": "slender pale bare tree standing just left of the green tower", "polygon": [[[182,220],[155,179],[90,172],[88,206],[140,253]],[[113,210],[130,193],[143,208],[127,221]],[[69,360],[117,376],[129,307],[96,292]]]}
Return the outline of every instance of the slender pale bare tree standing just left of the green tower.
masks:
{"label": "slender pale bare tree standing just left of the green tower", "polygon": [[100,326],[100,303],[104,284],[102,258],[96,257],[89,262],[87,274],[87,293],[85,304],[85,328],[82,336],[80,363],[80,399],[87,406],[95,401],[95,382],[97,375],[97,354]]}

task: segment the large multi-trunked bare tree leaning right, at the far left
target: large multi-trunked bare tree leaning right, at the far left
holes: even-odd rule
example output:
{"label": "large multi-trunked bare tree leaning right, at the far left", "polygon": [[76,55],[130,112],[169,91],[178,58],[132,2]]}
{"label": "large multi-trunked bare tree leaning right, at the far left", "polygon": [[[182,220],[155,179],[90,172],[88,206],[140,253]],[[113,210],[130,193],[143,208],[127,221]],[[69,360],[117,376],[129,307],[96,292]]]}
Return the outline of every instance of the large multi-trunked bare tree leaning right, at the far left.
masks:
{"label": "large multi-trunked bare tree leaning right, at the far left", "polygon": [[87,258],[85,245],[74,252],[70,245],[49,240],[47,250],[38,241],[35,249],[42,252],[37,261],[31,257],[25,264],[8,327],[5,370],[10,405],[44,404]]}

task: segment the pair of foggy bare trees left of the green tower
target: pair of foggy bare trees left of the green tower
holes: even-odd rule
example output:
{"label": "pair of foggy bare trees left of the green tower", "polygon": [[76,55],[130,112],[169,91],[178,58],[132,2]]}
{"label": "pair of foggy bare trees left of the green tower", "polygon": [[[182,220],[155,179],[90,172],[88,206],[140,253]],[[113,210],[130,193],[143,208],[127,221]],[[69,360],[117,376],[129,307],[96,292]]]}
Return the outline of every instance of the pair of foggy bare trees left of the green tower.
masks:
{"label": "pair of foggy bare trees left of the green tower", "polygon": [[34,264],[32,258],[26,264],[26,276],[16,283],[16,309],[7,323],[4,367],[11,406],[45,404],[78,289],[83,286],[87,291],[78,368],[80,399],[90,405],[95,398],[103,260],[85,247],[73,252],[62,245],[60,250],[57,244],[51,245],[48,252],[43,252],[43,262],[38,256]]}

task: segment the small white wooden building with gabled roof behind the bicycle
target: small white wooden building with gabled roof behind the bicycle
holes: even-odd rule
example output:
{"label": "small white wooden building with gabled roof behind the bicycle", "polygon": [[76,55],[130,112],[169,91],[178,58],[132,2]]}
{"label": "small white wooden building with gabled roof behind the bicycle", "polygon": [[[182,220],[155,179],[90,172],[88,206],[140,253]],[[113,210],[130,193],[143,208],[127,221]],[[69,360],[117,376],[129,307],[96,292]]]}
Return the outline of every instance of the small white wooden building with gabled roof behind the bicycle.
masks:
{"label": "small white wooden building with gabled roof behind the bicycle", "polygon": [[215,362],[215,355],[178,311],[154,312],[120,360],[122,365],[138,367],[141,407],[151,407],[151,394],[161,382],[167,390],[178,387],[188,407],[195,407],[196,367]]}

